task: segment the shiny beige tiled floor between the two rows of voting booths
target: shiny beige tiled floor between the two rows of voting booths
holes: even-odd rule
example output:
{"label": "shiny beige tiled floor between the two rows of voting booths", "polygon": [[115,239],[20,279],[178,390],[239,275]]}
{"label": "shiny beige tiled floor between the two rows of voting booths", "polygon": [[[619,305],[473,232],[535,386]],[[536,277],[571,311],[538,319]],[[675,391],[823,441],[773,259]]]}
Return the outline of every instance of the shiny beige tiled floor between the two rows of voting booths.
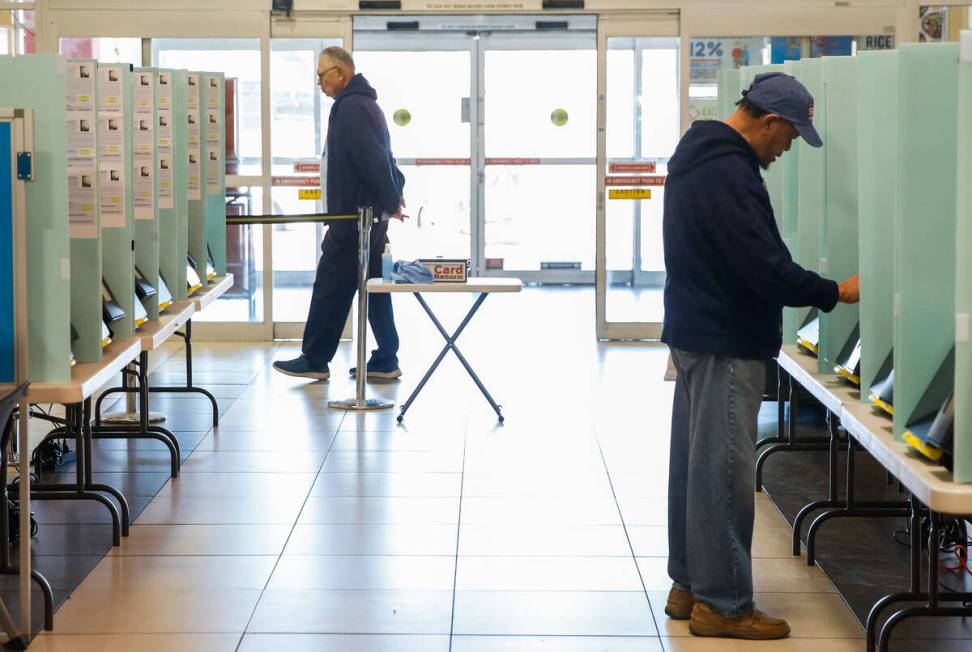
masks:
{"label": "shiny beige tiled floor between the two rows of voting booths", "polygon": [[[435,298],[450,319],[465,311],[465,297]],[[403,401],[441,346],[414,304],[395,304],[405,375],[371,385],[373,396]],[[31,649],[863,649],[831,584],[790,555],[789,527],[764,495],[757,600],[790,620],[792,638],[699,640],[664,616],[667,354],[597,343],[593,315],[588,290],[486,302],[458,344],[504,405],[504,426],[451,355],[399,426],[397,412],[326,407],[353,393],[348,344],[333,380],[308,383],[270,368],[294,344],[198,343],[197,382],[221,397],[220,427],[203,427],[198,399],[153,397],[194,441],[182,476]],[[179,381],[183,371],[175,355],[153,380]],[[164,455],[111,445],[95,467],[107,481],[134,489],[127,465],[137,463],[137,475],[162,484]],[[38,545],[60,536],[57,527],[66,526],[43,524]]]}

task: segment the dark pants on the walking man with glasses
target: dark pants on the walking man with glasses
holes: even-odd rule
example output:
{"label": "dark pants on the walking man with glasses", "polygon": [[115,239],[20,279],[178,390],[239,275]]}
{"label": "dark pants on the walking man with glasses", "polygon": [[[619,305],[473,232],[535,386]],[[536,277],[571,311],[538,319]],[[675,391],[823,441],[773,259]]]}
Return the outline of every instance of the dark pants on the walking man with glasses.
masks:
{"label": "dark pants on the walking man with glasses", "polygon": [[[368,270],[371,278],[381,276],[381,254],[386,242],[385,228],[381,227],[387,228],[387,225],[376,225],[371,233],[371,264]],[[321,261],[317,265],[302,347],[304,356],[318,368],[323,368],[334,357],[358,289],[357,246],[337,244],[329,236],[330,232],[325,235],[321,245]],[[378,342],[378,348],[371,352],[369,367],[397,368],[398,331],[395,329],[390,294],[372,294],[368,297],[368,322]]]}

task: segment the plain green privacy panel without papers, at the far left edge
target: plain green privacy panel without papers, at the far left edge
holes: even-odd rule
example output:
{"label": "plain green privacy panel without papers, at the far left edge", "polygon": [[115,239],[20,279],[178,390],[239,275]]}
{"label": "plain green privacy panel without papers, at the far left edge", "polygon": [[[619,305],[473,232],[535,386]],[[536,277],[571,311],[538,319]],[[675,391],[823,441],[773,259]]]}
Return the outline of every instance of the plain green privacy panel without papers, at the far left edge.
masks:
{"label": "plain green privacy panel without papers, at the far left edge", "polygon": [[70,370],[70,236],[63,57],[0,57],[0,105],[33,109],[34,177],[27,184],[30,377],[64,382]]}

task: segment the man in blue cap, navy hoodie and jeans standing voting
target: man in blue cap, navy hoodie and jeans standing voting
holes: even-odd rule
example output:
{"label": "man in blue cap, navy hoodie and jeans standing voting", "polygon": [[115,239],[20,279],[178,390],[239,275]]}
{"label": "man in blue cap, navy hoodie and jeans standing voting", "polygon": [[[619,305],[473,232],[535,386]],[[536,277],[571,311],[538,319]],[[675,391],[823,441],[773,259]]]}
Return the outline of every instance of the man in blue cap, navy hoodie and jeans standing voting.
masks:
{"label": "man in blue cap, navy hoodie and jeans standing voting", "polygon": [[699,636],[783,638],[786,621],[753,604],[755,435],[766,361],[783,306],[829,312],[858,300],[793,262],[760,174],[797,137],[823,143],[813,97],[783,73],[756,77],[737,110],[698,121],[665,183],[665,326],[678,378],[672,409],[665,608]]}

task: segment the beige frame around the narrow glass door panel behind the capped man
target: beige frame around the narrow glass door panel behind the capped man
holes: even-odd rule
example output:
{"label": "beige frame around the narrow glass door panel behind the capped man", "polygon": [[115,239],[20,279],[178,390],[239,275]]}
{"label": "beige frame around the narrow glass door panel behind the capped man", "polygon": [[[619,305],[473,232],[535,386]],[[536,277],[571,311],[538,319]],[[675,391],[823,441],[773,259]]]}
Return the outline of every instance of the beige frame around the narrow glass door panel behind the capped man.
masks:
{"label": "beige frame around the narrow glass door panel behind the capped man", "polygon": [[[607,54],[608,39],[628,38],[678,38],[680,36],[680,14],[675,11],[658,11],[639,15],[637,18],[626,14],[600,14],[597,22],[597,216],[596,216],[596,254],[595,254],[595,333],[598,339],[606,340],[657,340],[661,337],[660,322],[611,322],[607,320],[607,206],[605,170],[607,170]],[[679,44],[678,79],[681,89],[685,82],[687,68],[686,43],[682,37]],[[679,93],[679,113],[682,131],[685,129],[686,107],[684,94]],[[637,221],[635,231],[638,231]],[[635,242],[633,263],[640,260],[639,241]],[[633,268],[633,277],[650,275],[642,273],[640,264]]]}

